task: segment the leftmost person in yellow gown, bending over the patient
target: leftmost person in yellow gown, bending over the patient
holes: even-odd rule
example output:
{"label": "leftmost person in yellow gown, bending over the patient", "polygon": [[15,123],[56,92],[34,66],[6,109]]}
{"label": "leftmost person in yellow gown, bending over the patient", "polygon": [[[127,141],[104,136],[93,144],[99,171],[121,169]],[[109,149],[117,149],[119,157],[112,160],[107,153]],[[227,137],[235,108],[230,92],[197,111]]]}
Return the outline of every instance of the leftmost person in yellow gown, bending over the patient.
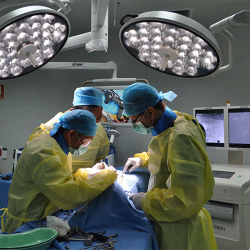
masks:
{"label": "leftmost person in yellow gown, bending over the patient", "polygon": [[62,115],[49,134],[41,130],[29,137],[9,189],[3,231],[13,233],[22,224],[60,208],[84,205],[116,180],[116,170],[102,169],[101,164],[70,172],[68,152],[86,152],[95,133],[95,116],[86,110],[73,110]]}

